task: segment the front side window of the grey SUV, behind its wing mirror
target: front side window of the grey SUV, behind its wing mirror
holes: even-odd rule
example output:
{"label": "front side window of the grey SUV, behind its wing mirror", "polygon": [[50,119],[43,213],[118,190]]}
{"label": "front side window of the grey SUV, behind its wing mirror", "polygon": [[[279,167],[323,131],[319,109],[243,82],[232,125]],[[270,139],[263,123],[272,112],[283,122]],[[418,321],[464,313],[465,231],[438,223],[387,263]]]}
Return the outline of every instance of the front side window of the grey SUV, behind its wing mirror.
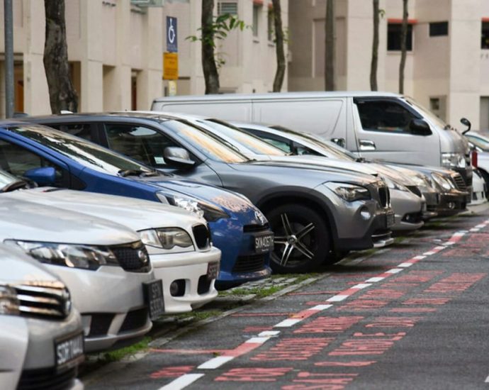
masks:
{"label": "front side window of the grey SUV, behind its wing mirror", "polygon": [[103,127],[110,149],[147,165],[165,165],[164,148],[179,147],[166,135],[145,126],[106,123]]}

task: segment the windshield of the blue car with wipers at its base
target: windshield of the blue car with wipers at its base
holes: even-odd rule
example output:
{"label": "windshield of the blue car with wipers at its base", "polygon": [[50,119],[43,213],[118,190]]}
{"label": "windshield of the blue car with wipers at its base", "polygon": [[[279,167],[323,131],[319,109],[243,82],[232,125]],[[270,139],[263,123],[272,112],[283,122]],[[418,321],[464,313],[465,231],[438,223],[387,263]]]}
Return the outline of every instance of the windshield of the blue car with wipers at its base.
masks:
{"label": "windshield of the blue car with wipers at its base", "polygon": [[[74,137],[67,133],[47,128],[45,126],[13,126],[9,130],[33,140],[45,147],[78,162],[84,167],[95,169],[108,174],[120,174],[121,172],[138,172],[139,174],[156,175],[154,169],[141,165],[123,155],[96,145],[82,138]],[[125,176],[125,174],[123,174]]]}

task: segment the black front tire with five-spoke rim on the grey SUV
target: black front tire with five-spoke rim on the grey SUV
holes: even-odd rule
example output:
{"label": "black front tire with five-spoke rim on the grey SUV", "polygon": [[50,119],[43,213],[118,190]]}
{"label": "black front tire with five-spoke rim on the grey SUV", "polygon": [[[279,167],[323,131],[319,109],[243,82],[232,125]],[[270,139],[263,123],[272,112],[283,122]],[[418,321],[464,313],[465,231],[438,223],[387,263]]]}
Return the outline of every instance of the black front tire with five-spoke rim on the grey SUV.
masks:
{"label": "black front tire with five-spoke rim on the grey SUV", "polygon": [[276,273],[310,272],[331,250],[330,229],[322,216],[300,204],[284,204],[266,213],[274,230],[270,267]]}

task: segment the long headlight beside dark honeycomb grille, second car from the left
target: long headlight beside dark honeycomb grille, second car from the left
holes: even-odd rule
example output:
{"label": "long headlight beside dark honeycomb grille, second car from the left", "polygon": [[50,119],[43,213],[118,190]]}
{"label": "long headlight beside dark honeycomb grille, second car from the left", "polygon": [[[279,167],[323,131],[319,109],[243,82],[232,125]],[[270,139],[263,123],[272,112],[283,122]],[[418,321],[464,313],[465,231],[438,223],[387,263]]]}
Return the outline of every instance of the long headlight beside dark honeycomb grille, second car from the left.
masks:
{"label": "long headlight beside dark honeycomb grille, second car from the left", "polygon": [[92,270],[99,269],[101,265],[119,266],[113,252],[103,247],[18,240],[5,240],[4,243],[18,245],[35,260],[47,264]]}

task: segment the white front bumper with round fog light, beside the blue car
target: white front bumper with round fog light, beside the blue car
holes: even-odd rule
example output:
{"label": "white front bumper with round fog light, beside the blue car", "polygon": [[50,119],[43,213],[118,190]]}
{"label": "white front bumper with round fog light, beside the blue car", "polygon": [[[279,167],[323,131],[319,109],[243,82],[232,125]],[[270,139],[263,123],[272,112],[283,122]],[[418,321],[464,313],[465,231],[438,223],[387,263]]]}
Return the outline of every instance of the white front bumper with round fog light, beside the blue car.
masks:
{"label": "white front bumper with round fog light, beside the blue car", "polygon": [[[218,296],[215,279],[207,278],[208,264],[220,262],[220,250],[151,255],[154,276],[163,281],[165,313],[185,313]],[[170,286],[178,286],[174,295]]]}

